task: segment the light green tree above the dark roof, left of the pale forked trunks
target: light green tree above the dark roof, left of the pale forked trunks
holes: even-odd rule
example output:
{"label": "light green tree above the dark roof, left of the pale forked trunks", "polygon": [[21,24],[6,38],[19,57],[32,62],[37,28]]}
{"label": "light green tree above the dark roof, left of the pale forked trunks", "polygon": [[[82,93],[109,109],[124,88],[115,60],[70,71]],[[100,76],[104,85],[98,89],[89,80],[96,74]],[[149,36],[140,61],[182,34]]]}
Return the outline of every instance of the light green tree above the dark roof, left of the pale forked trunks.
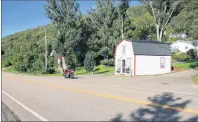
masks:
{"label": "light green tree above the dark roof, left of the pale forked trunks", "polygon": [[155,22],[144,6],[130,7],[127,16],[125,36],[132,39],[154,39]]}

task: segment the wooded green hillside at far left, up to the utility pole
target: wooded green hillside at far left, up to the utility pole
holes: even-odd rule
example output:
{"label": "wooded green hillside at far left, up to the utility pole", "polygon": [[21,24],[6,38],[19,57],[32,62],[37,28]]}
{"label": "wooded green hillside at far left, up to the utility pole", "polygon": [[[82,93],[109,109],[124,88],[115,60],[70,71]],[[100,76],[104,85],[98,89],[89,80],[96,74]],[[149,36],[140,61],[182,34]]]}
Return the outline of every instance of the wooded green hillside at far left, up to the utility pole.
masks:
{"label": "wooded green hillside at far left, up to the utility pole", "polygon": [[[22,72],[43,72],[45,29],[50,52],[53,41],[51,25],[21,31],[2,39],[2,66],[12,66]],[[53,57],[49,57],[49,64],[54,67]]]}

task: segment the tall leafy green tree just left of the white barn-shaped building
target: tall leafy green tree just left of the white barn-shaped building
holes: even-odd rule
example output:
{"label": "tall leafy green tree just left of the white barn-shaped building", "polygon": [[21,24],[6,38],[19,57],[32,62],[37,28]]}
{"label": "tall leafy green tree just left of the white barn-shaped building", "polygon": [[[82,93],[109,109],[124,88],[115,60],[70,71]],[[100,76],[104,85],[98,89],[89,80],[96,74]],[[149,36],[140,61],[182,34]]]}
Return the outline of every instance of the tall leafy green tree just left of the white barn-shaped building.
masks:
{"label": "tall leafy green tree just left of the white barn-shaped building", "polygon": [[118,13],[114,4],[114,0],[99,0],[96,1],[96,8],[89,12],[89,24],[95,32],[91,35],[89,46],[93,48],[91,50],[97,48],[95,52],[106,59],[113,56],[112,50],[119,37],[119,28],[116,26]]}

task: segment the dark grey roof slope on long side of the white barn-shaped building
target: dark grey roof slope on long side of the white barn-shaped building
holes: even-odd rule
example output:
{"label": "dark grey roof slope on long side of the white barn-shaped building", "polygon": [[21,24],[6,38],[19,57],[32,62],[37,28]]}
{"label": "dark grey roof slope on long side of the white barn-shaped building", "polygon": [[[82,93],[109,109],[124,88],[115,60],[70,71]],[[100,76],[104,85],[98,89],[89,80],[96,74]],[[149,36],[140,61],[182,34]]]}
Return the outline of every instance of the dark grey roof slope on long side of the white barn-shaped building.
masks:
{"label": "dark grey roof slope on long side of the white barn-shaped building", "polygon": [[152,40],[131,40],[134,55],[171,56],[170,46]]}

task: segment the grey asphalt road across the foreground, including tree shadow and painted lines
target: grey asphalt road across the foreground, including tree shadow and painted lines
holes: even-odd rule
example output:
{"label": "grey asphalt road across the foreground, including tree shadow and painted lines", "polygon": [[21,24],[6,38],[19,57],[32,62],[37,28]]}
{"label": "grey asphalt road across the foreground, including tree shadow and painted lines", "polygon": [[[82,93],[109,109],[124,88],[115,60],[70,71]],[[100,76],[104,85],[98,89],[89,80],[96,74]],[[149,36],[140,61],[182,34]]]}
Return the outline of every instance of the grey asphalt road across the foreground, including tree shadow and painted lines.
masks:
{"label": "grey asphalt road across the foreground, including tree shadow and painted lines", "polygon": [[197,73],[71,80],[3,72],[2,101],[21,121],[198,121]]}

